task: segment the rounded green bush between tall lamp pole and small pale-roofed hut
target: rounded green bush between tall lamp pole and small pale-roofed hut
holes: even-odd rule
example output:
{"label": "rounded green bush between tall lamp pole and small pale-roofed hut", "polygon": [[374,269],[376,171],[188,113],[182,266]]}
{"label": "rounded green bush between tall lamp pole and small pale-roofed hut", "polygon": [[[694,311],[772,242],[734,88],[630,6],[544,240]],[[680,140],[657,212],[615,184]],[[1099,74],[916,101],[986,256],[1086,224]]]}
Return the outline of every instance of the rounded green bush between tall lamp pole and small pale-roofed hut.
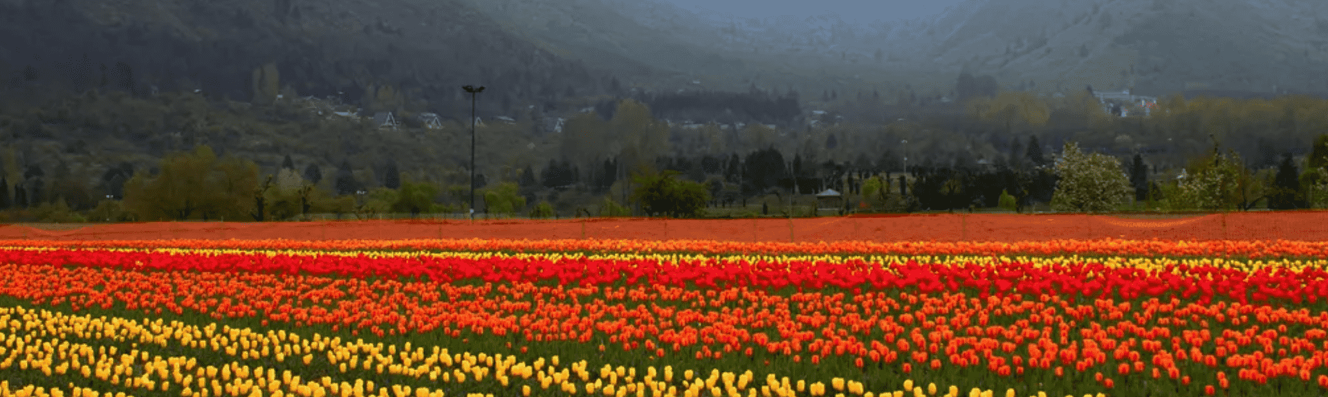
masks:
{"label": "rounded green bush between tall lamp pole and small pale-roofed hut", "polygon": [[701,183],[675,179],[677,174],[665,170],[661,174],[636,175],[632,199],[640,202],[641,210],[652,216],[701,216],[710,193]]}

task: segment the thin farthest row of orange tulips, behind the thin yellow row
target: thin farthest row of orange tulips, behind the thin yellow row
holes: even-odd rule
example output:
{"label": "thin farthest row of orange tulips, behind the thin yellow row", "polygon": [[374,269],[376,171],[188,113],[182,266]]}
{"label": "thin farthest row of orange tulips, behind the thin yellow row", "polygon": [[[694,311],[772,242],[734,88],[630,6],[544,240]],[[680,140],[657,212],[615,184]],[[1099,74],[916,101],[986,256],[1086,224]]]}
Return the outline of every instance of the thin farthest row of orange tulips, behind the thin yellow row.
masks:
{"label": "thin farthest row of orange tulips, behind the thin yellow row", "polygon": [[1316,258],[1328,259],[1328,242],[1299,240],[1049,240],[1049,242],[821,242],[741,243],[717,240],[0,240],[8,247],[130,247],[130,248],[238,248],[295,251],[517,251],[517,252],[689,252],[689,254],[849,254],[849,255],[1114,255],[1114,256],[1208,256],[1208,258]]}

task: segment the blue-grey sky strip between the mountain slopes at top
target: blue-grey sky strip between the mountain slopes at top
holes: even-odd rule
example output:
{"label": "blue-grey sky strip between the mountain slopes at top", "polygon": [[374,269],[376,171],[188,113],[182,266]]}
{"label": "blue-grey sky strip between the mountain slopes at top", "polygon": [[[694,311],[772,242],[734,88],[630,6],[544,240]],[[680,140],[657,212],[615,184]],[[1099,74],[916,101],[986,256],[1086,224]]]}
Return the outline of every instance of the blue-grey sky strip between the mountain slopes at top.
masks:
{"label": "blue-grey sky strip between the mountain slopes at top", "polygon": [[691,12],[713,11],[734,17],[776,17],[791,15],[799,19],[838,13],[847,23],[869,24],[875,20],[908,20],[938,15],[960,0],[659,0]]}

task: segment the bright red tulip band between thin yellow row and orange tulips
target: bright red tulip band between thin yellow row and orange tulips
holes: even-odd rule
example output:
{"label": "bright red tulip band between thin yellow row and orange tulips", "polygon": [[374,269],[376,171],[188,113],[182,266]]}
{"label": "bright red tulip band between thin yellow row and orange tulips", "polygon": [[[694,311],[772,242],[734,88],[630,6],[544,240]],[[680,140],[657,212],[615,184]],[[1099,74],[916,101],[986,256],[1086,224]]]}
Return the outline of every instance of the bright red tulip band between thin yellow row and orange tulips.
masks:
{"label": "bright red tulip band between thin yellow row and orange tulips", "polygon": [[[950,259],[944,262],[876,263],[847,260],[746,260],[624,258],[595,260],[584,256],[382,256],[372,254],[304,255],[262,252],[208,252],[193,255],[159,251],[109,250],[0,250],[0,263],[88,266],[133,270],[206,271],[236,274],[313,274],[340,276],[428,278],[438,283],[482,280],[489,283],[535,283],[556,280],[562,285],[647,283],[703,288],[750,287],[766,289],[846,291],[907,288],[923,293],[973,288],[988,293],[1049,293],[1078,297],[1179,296],[1210,303],[1224,297],[1239,303],[1280,300],[1317,303],[1328,297],[1328,271],[1260,267],[1254,271],[1214,264],[1109,260],[999,258]],[[1104,262],[1112,264],[1104,264]],[[1123,264],[1123,266],[1122,266]]]}

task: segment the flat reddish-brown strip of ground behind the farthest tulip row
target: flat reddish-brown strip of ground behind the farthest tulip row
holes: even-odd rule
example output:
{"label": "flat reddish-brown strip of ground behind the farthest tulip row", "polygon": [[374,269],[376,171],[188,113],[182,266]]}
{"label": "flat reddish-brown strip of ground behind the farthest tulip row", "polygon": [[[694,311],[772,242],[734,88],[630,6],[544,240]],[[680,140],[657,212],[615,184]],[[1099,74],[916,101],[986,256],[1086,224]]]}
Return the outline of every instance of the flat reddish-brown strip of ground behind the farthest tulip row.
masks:
{"label": "flat reddish-brown strip of ground behind the farthest tulip row", "polygon": [[0,239],[710,239],[732,242],[1328,240],[1328,212],[908,214],[764,219],[327,220],[5,224]]}

